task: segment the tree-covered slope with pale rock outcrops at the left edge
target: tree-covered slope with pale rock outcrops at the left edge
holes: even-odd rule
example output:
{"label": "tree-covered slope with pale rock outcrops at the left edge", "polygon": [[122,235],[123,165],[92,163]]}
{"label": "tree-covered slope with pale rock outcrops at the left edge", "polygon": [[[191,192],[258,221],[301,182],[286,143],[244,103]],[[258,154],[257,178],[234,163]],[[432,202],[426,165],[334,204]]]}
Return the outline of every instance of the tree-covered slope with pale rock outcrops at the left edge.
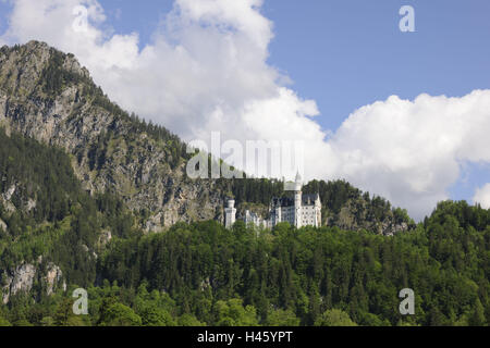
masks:
{"label": "tree-covered slope with pale rock outcrops at the left edge", "polygon": [[94,284],[106,244],[142,234],[136,217],[114,196],[83,190],[62,149],[2,128],[0,144],[0,301]]}

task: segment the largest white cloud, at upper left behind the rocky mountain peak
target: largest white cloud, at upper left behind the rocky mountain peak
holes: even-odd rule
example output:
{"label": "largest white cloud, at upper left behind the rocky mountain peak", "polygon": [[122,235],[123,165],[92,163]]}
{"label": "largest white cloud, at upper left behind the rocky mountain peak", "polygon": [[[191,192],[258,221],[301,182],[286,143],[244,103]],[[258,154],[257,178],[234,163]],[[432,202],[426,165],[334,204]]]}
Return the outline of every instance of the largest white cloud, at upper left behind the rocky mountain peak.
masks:
{"label": "largest white cloud, at upper left behind the rocky mountain peak", "polygon": [[[324,134],[309,119],[319,113],[315,101],[284,87],[287,77],[267,63],[273,32],[261,3],[176,0],[139,50],[137,33],[105,28],[95,0],[19,0],[3,38],[46,40],[75,53],[121,107],[186,140],[220,130],[242,141],[315,139],[321,147]],[[74,25],[81,5],[88,9],[85,30]]]}

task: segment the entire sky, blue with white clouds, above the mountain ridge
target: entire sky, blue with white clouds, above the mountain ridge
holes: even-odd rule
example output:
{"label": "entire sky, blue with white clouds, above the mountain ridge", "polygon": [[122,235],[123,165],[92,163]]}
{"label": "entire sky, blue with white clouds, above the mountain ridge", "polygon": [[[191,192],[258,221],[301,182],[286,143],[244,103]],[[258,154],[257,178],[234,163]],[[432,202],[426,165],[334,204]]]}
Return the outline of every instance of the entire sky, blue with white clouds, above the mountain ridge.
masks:
{"label": "entire sky, blue with white clouds, above the mountain ridge", "polygon": [[75,53],[185,140],[303,140],[306,179],[421,219],[443,199],[490,208],[489,14],[487,0],[15,0],[0,2],[0,44]]}

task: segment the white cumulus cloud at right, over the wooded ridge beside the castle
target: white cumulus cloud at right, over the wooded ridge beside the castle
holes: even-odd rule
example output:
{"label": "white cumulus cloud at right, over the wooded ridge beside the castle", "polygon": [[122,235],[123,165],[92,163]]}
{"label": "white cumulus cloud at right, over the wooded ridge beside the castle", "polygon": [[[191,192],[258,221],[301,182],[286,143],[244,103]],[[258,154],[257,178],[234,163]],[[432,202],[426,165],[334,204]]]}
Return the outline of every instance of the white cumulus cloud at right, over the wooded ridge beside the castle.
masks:
{"label": "white cumulus cloud at right, over the wooded ridge beside the castle", "polygon": [[489,130],[490,90],[393,96],[355,111],[329,144],[341,158],[336,174],[420,217],[449,198],[462,163],[490,162]]}

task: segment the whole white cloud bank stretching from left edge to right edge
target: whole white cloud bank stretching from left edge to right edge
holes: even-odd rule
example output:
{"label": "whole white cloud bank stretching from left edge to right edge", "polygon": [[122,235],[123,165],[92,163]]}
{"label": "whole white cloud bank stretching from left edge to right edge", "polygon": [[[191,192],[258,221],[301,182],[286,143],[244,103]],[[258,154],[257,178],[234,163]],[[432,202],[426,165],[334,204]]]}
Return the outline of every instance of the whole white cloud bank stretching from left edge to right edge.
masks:
{"label": "whole white cloud bank stretching from left edge to right edge", "polygon": [[185,140],[215,130],[223,140],[303,140],[307,179],[346,178],[417,219],[448,198],[462,163],[490,162],[490,90],[393,96],[354,111],[333,133],[322,129],[315,101],[267,62],[273,25],[261,4],[175,0],[139,49],[138,34],[114,34],[96,0],[17,0],[0,41],[38,39],[73,52],[111,99]]}

